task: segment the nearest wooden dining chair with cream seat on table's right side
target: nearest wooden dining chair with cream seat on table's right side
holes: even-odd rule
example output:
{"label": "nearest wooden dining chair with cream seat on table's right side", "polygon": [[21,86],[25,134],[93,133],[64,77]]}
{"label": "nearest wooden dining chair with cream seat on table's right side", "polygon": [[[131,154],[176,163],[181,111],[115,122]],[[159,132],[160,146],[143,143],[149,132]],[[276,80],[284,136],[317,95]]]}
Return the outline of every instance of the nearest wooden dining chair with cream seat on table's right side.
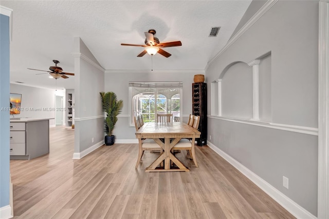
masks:
{"label": "nearest wooden dining chair with cream seat on table's right side", "polygon": [[[200,122],[200,116],[193,116],[193,128],[197,129],[199,126]],[[190,159],[193,160],[195,167],[198,167],[197,162],[196,162],[196,157],[195,157],[195,150],[194,150],[194,145],[195,145],[195,138],[192,138],[192,140],[182,138],[178,143],[175,144],[175,146],[171,149],[172,152],[174,150],[187,150],[188,155],[190,156]]]}

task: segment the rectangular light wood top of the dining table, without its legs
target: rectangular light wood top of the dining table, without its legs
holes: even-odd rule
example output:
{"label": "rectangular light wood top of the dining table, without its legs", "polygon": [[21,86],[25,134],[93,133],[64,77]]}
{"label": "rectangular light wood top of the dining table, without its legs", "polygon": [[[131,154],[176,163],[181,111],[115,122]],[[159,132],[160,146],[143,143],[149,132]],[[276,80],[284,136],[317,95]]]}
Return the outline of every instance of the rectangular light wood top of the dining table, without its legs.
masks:
{"label": "rectangular light wood top of the dining table, without its legs", "polygon": [[136,138],[198,138],[200,132],[184,122],[145,122]]}

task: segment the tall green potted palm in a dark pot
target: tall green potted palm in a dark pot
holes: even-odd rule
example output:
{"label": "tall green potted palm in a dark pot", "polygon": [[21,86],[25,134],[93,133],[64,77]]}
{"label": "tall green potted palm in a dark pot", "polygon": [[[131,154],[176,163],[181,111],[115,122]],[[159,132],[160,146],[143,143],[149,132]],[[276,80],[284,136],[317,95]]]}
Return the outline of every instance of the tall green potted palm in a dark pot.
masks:
{"label": "tall green potted palm in a dark pot", "polygon": [[105,144],[113,145],[115,137],[113,130],[116,122],[118,121],[118,115],[123,108],[123,101],[117,99],[117,95],[114,92],[100,92],[102,98],[102,109],[106,113],[104,119],[104,132],[105,132]]}

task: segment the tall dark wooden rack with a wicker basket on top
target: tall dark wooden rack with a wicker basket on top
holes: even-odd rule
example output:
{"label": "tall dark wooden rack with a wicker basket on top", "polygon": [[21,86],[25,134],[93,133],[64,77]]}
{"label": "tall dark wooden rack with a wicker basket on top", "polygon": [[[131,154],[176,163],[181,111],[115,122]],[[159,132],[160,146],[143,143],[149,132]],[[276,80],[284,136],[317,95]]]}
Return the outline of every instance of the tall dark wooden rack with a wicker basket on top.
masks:
{"label": "tall dark wooden rack with a wicker basket on top", "polygon": [[207,84],[203,82],[192,84],[193,115],[200,116],[198,131],[200,138],[195,139],[197,145],[207,144]]}

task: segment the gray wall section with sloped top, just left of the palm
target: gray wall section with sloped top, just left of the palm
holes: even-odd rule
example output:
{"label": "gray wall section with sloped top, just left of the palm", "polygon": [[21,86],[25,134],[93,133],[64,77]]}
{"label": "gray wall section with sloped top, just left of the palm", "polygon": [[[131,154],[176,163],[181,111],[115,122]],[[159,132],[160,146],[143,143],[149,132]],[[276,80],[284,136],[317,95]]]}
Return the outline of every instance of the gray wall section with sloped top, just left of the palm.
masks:
{"label": "gray wall section with sloped top, just left of the palm", "polygon": [[75,53],[81,53],[75,58],[74,118],[74,152],[80,153],[104,141],[104,114],[99,94],[104,90],[104,72],[95,66],[99,65],[98,62],[79,37],[75,38]]}

